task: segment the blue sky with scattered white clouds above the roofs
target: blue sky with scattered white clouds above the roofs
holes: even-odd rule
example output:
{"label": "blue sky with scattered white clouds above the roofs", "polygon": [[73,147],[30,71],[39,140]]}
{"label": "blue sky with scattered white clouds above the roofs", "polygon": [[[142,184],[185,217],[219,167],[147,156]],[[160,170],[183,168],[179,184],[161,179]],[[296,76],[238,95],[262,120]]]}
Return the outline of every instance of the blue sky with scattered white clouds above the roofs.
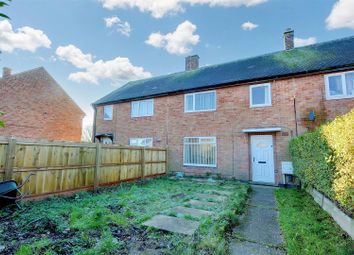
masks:
{"label": "blue sky with scattered white clouds above the roofs", "polygon": [[354,34],[353,0],[13,0],[3,12],[0,68],[45,67],[86,123],[92,102],[182,71],[187,55],[203,66],[282,50],[288,27],[298,46]]}

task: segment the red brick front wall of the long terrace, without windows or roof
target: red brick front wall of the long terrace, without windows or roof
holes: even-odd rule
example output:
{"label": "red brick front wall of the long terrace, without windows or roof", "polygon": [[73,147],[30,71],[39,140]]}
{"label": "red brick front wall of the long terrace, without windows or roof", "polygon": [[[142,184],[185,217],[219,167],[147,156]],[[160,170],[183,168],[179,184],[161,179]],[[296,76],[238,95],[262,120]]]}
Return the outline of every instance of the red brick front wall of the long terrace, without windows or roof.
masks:
{"label": "red brick front wall of the long terrace, without windows or roof", "polygon": [[[97,109],[96,133],[114,133],[115,143],[127,145],[131,137],[153,137],[154,146],[168,146],[169,170],[193,174],[220,173],[250,180],[249,134],[246,128],[282,127],[274,137],[276,183],[281,182],[281,161],[289,161],[288,142],[295,136],[294,98],[299,134],[328,118],[354,107],[354,99],[325,100],[323,75],[271,81],[272,106],[250,108],[249,84],[216,89],[217,110],[184,113],[184,95],[154,99],[154,116],[131,118],[130,103],[114,105],[112,121],[103,121],[103,107]],[[314,110],[317,119],[307,121]],[[217,137],[217,167],[184,167],[183,138]]]}

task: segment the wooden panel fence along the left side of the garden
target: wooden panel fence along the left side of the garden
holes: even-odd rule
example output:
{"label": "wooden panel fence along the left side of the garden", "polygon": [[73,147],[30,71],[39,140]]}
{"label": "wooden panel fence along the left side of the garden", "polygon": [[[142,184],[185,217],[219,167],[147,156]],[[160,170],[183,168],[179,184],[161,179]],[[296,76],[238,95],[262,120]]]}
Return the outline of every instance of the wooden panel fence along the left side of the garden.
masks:
{"label": "wooden panel fence along the left side of the garden", "polygon": [[0,138],[0,181],[21,183],[29,197],[113,185],[166,173],[164,148]]}

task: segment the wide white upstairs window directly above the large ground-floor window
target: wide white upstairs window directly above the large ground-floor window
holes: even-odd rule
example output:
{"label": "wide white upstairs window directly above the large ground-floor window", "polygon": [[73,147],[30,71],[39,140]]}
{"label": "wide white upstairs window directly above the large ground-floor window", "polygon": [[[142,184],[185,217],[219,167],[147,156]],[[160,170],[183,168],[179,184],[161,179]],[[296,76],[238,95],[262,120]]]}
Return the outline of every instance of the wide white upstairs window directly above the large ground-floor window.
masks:
{"label": "wide white upstairs window directly above the large ground-floor window", "polygon": [[185,112],[207,112],[216,110],[216,91],[184,95]]}

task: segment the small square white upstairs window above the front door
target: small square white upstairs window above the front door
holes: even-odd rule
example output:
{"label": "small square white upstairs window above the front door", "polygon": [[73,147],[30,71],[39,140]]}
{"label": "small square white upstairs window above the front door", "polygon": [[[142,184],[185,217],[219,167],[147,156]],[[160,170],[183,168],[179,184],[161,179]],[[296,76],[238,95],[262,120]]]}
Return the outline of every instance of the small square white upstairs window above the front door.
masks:
{"label": "small square white upstairs window above the front door", "polygon": [[272,87],[270,83],[250,86],[250,107],[272,105]]}

